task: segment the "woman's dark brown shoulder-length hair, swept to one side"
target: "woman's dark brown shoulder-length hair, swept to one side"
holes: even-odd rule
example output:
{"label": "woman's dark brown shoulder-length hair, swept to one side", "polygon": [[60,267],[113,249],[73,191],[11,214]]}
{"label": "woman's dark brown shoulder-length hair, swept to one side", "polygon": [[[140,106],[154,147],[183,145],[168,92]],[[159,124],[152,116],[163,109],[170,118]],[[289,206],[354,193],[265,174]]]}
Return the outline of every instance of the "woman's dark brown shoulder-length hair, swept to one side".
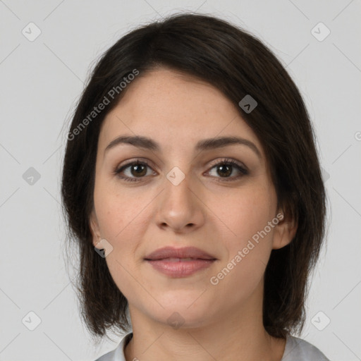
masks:
{"label": "woman's dark brown shoulder-length hair, swept to one side", "polygon": [[[110,329],[129,330],[128,301],[92,244],[95,161],[102,121],[131,86],[119,90],[119,84],[135,69],[139,78],[157,66],[214,85],[238,107],[264,147],[278,205],[298,224],[290,244],[271,251],[264,276],[264,327],[274,337],[300,333],[307,280],[319,257],[326,217],[310,118],[290,75],[259,39],[225,20],[197,13],[169,16],[121,37],[97,61],[73,114],[61,196],[68,239],[80,250],[78,290],[88,329],[93,336],[104,336]],[[90,117],[115,87],[118,92],[113,92],[110,104]],[[250,113],[238,106],[247,94],[257,101]]]}

